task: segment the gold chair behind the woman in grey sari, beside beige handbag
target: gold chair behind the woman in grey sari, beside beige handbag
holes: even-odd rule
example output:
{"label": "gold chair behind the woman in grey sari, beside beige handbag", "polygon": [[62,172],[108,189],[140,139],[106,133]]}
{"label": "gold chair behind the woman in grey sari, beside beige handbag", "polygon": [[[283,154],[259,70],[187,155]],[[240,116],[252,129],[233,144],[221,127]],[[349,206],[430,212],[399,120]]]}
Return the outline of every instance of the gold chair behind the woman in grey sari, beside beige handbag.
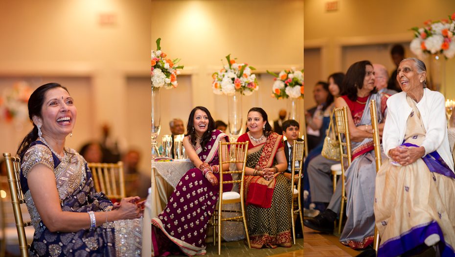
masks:
{"label": "gold chair behind the woman in grey sari, beside beige handbag", "polygon": [[[349,133],[349,123],[347,118],[347,107],[343,106],[340,108],[335,108],[335,126],[338,133],[338,141],[340,142],[340,152],[341,152],[341,210],[340,210],[340,220],[338,223],[338,234],[341,234],[341,223],[344,213],[344,202],[346,198],[346,189],[345,189],[345,165],[344,162],[347,160],[347,166],[351,166],[352,151],[351,151],[351,138]],[[342,139],[344,138],[344,142]],[[346,160],[344,160],[346,158]]]}

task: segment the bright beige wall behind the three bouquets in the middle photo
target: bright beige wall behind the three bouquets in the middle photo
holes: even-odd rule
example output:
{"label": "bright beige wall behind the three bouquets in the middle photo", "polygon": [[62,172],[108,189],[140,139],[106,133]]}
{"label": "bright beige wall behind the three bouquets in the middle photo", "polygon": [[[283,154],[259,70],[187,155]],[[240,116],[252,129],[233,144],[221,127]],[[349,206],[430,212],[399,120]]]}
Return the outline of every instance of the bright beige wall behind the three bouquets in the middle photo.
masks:
{"label": "bright beige wall behind the three bouquets in the middle photo", "polygon": [[170,133],[174,117],[186,124],[198,105],[227,122],[227,97],[212,93],[211,74],[228,54],[258,72],[259,91],[243,96],[244,122],[250,107],[263,107],[269,120],[286,107],[285,100],[270,96],[273,77],[266,70],[303,68],[303,0],[152,0],[151,10],[152,48],[161,38],[168,57],[181,58],[185,66],[177,89],[161,89],[160,135]]}

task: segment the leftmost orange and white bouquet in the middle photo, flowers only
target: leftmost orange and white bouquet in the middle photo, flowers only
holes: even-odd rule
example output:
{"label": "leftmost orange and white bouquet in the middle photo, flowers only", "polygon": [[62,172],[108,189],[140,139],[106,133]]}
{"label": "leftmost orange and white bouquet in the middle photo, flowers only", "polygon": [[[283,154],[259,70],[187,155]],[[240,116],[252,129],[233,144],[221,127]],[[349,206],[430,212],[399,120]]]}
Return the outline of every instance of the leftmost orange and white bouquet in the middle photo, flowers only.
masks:
{"label": "leftmost orange and white bouquet in the middle photo, flowers only", "polygon": [[152,87],[174,88],[179,84],[177,83],[177,75],[180,74],[178,69],[183,66],[176,64],[180,59],[171,60],[166,58],[166,54],[161,51],[159,46],[161,39],[157,39],[157,50],[152,50]]}

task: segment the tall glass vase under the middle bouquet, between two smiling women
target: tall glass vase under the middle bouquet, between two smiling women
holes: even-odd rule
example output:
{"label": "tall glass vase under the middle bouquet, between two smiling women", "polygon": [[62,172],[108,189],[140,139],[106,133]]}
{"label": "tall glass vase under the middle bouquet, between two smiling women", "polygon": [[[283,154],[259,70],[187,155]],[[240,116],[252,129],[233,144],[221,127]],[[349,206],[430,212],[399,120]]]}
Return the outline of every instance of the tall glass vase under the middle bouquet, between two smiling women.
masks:
{"label": "tall glass vase under the middle bouquet, between two smiling women", "polygon": [[228,95],[228,130],[229,141],[235,142],[242,134],[242,94],[235,92],[233,95]]}

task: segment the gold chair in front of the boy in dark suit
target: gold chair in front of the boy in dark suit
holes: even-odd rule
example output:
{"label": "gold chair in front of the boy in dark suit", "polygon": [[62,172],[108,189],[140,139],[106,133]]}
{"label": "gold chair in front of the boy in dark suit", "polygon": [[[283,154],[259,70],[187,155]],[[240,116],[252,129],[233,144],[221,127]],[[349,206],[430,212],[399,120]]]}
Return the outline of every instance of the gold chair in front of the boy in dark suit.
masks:
{"label": "gold chair in front of the boy in dark suit", "polygon": [[[301,181],[302,181],[302,166],[303,166],[303,153],[305,152],[304,141],[294,141],[292,151],[292,164],[291,164],[291,190],[292,190],[292,206],[291,206],[291,222],[292,222],[292,235],[294,244],[296,244],[296,221],[294,220],[294,214],[298,214],[300,217],[300,225],[302,226],[303,233],[303,208],[301,204]],[[296,168],[296,162],[299,162],[298,168]],[[297,188],[294,184],[296,169],[298,170],[297,177]],[[296,203],[294,203],[296,201]],[[303,234],[302,234],[303,236]]]}

